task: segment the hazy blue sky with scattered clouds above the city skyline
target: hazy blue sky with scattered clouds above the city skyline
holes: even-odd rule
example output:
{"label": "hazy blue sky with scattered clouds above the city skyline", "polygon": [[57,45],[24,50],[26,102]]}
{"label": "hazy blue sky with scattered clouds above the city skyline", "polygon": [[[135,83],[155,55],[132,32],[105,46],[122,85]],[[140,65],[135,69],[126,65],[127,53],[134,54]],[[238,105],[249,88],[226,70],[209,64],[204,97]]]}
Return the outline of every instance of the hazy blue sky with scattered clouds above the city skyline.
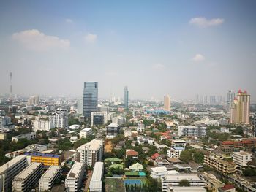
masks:
{"label": "hazy blue sky with scattered clouds above the city skyline", "polygon": [[0,1],[0,93],[256,101],[256,1]]}

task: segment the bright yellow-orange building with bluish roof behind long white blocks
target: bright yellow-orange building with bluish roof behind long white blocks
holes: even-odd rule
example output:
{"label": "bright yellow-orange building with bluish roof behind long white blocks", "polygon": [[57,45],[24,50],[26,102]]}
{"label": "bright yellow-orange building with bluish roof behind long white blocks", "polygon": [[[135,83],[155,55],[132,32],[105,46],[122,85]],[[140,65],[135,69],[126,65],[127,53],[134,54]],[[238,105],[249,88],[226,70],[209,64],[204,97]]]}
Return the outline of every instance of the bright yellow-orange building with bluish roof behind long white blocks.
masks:
{"label": "bright yellow-orange building with bluish roof behind long white blocks", "polygon": [[45,166],[61,164],[61,155],[45,153],[29,153],[28,155],[31,155],[31,162],[42,163]]}

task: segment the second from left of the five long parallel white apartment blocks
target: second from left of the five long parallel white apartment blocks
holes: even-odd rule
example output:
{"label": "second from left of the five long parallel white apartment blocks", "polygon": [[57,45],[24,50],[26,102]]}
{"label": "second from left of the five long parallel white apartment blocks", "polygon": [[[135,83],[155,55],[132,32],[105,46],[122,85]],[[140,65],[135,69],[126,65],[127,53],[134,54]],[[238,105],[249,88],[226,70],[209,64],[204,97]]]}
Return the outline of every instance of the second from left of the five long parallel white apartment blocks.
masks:
{"label": "second from left of the five long parallel white apartment blocks", "polygon": [[31,191],[43,172],[43,164],[33,162],[26,169],[14,177],[12,191]]}

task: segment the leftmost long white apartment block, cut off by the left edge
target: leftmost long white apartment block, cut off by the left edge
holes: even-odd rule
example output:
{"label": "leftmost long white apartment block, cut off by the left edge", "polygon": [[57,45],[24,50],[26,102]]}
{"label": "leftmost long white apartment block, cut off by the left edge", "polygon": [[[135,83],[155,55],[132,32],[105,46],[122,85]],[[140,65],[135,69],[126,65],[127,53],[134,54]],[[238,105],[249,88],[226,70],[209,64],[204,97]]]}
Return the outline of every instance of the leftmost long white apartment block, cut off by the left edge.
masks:
{"label": "leftmost long white apartment block, cut off by the left edge", "polygon": [[0,191],[7,191],[13,178],[28,166],[27,155],[19,155],[0,166]]}

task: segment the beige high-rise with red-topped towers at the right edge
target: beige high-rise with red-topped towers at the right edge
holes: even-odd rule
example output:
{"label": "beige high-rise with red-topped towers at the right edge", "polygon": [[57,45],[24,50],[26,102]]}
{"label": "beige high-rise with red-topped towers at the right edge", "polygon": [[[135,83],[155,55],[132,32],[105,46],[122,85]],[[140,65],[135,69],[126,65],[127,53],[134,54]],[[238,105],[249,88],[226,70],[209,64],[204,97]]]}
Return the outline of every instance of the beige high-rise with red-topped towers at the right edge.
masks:
{"label": "beige high-rise with red-topped towers at the right edge", "polygon": [[230,108],[230,123],[249,124],[249,105],[250,95],[239,90]]}

